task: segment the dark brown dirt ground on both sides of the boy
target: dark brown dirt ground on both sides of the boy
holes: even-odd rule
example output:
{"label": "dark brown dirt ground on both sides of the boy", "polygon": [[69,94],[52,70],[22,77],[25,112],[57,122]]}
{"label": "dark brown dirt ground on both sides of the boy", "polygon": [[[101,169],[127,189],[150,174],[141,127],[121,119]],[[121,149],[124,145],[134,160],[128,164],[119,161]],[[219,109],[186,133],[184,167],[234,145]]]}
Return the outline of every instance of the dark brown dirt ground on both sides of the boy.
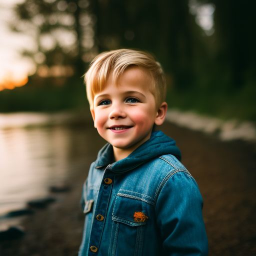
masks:
{"label": "dark brown dirt ground on both sides of the boy", "polygon": [[[256,146],[219,141],[170,123],[161,129],[176,140],[182,162],[200,187],[209,255],[256,255]],[[89,163],[104,143],[94,129],[91,132],[91,148],[84,147],[86,157],[76,162],[75,175],[69,178],[71,192],[58,195],[56,203],[26,218],[26,235],[0,243],[1,256],[76,255],[83,225],[77,202],[80,188]]]}

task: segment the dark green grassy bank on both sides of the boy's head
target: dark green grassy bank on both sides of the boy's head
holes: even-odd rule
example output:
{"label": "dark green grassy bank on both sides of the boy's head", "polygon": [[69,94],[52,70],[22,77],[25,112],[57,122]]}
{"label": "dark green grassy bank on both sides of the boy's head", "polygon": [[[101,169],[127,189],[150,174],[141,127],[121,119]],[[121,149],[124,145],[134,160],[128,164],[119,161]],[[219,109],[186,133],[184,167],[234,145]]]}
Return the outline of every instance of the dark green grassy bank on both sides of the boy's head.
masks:
{"label": "dark green grassy bank on both sides of the boy's head", "polygon": [[[167,102],[170,108],[192,110],[222,119],[256,121],[255,95],[254,84],[248,84],[239,90],[218,84],[208,87],[193,86],[183,90],[169,89]],[[62,84],[59,84],[59,80],[31,78],[23,87],[0,91],[0,112],[51,112],[85,107],[88,107],[88,103],[79,77]]]}

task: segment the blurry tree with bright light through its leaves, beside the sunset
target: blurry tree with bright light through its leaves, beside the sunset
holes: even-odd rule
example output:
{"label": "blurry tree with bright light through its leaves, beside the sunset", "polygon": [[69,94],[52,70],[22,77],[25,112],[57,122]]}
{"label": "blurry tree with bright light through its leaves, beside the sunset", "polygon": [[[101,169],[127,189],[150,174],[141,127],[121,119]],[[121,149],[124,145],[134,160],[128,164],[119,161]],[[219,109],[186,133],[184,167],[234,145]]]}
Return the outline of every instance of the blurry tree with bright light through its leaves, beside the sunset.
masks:
{"label": "blurry tree with bright light through its leaves, beside the sunset", "polygon": [[23,54],[38,68],[58,65],[71,67],[79,76],[84,72],[86,54],[94,46],[88,0],[25,0],[15,12],[11,27],[33,38],[34,46]]}

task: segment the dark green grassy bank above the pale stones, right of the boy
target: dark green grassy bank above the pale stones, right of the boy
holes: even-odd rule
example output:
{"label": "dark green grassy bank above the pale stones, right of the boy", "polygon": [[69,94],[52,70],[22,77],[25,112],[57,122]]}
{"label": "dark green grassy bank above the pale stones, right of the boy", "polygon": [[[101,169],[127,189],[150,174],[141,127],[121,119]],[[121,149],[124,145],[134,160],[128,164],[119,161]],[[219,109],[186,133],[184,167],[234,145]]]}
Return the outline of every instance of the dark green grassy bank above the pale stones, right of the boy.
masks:
{"label": "dark green grassy bank above the pale stones, right of the boy", "polygon": [[191,110],[221,119],[256,121],[256,86],[246,86],[239,91],[197,88],[186,91],[169,91],[169,107]]}

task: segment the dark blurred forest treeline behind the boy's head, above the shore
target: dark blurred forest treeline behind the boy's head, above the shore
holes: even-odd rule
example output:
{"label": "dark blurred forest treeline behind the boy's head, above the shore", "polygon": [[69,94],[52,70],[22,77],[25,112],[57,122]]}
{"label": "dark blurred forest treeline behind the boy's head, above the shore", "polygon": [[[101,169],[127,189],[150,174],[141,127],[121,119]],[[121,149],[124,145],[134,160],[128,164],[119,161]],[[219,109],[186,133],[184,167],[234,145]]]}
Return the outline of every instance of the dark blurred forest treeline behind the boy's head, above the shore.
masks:
{"label": "dark blurred forest treeline behind the boy's head, above the shore", "polygon": [[[211,31],[198,13],[211,7]],[[85,106],[82,74],[98,52],[139,48],[166,73],[170,107],[256,120],[256,2],[249,0],[24,0],[13,31],[33,37],[22,54],[36,72],[0,91],[0,111]]]}

